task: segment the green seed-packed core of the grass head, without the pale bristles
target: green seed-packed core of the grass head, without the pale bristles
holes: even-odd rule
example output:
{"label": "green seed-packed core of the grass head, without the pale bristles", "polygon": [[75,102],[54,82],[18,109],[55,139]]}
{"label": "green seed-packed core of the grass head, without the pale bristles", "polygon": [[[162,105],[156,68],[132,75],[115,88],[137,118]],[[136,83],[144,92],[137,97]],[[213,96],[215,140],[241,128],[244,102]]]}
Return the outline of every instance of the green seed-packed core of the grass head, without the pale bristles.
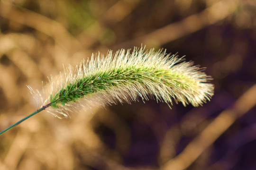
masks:
{"label": "green seed-packed core of the grass head, without the pale bristles", "polygon": [[[179,87],[188,90],[195,81],[183,74],[172,73],[171,70],[128,67],[116,68],[107,72],[96,73],[70,83],[62,88],[55,97],[51,97],[52,107],[58,108],[58,104],[65,105],[68,102],[76,102],[87,94],[97,93],[102,90],[118,88],[119,85],[131,84],[133,82],[147,86],[145,80],[152,83],[165,84],[170,87]],[[170,81],[172,80],[172,81]],[[187,83],[186,83],[187,82]]]}

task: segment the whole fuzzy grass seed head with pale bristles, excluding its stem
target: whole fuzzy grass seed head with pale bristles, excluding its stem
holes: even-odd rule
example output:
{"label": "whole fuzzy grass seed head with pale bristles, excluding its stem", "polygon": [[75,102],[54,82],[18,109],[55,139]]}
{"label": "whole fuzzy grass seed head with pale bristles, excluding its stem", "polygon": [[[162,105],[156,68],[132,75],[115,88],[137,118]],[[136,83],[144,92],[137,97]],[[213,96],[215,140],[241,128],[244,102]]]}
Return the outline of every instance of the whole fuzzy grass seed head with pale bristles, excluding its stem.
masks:
{"label": "whole fuzzy grass seed head with pale bristles, excluding its stem", "polygon": [[49,88],[37,97],[42,98],[42,107],[57,117],[67,117],[80,108],[131,103],[138,97],[171,105],[173,101],[202,105],[213,95],[214,87],[208,83],[211,77],[183,60],[162,50],[143,48],[109,51],[105,58],[92,55],[91,60],[51,77]]}

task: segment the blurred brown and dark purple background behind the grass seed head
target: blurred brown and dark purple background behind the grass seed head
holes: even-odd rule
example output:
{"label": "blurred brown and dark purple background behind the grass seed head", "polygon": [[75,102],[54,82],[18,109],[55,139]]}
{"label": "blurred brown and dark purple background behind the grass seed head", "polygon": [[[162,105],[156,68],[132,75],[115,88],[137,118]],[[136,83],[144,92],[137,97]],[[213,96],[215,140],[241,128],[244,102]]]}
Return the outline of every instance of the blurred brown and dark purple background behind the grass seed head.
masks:
{"label": "blurred brown and dark purple background behind the grass seed head", "polygon": [[141,44],[205,67],[212,100],[43,111],[0,136],[0,170],[255,170],[255,0],[1,0],[0,130],[37,109],[26,85]]}

